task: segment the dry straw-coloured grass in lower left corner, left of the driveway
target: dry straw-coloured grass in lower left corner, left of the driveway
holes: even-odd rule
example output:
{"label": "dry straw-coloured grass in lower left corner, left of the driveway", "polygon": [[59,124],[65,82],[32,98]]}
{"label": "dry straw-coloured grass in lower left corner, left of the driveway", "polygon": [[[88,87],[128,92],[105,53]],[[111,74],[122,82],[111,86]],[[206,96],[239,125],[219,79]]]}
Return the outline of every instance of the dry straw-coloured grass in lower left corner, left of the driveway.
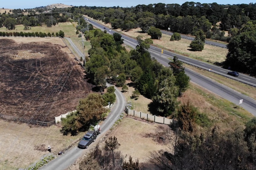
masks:
{"label": "dry straw-coloured grass in lower left corner, left of the driveway", "polygon": [[25,168],[48,154],[48,145],[51,146],[52,153],[57,154],[83,135],[63,136],[60,127],[29,127],[24,123],[17,124],[0,119],[0,169]]}

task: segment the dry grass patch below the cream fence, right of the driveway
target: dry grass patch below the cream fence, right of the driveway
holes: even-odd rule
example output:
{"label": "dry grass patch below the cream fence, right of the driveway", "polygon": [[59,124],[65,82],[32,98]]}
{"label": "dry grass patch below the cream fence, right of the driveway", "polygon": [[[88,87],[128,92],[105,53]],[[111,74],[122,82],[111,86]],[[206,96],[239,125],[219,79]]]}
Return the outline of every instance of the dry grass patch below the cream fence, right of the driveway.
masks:
{"label": "dry grass patch below the cream fence, right of the driveway", "polygon": [[146,162],[149,159],[150,152],[165,148],[157,142],[156,131],[161,127],[167,127],[162,124],[149,124],[129,117],[124,118],[117,128],[115,128],[108,137],[116,136],[120,147],[118,150],[123,155],[132,156],[133,160],[139,158],[139,162]]}

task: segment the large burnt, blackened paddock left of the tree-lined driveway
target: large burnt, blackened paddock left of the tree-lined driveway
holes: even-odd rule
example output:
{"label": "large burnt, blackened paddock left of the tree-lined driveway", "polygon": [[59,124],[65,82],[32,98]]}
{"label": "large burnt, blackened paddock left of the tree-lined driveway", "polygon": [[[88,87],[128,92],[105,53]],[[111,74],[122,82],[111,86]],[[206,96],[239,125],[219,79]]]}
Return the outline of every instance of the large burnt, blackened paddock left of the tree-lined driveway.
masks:
{"label": "large burnt, blackened paddock left of the tree-lined driveway", "polygon": [[62,39],[1,38],[0,45],[1,115],[50,122],[91,92]]}

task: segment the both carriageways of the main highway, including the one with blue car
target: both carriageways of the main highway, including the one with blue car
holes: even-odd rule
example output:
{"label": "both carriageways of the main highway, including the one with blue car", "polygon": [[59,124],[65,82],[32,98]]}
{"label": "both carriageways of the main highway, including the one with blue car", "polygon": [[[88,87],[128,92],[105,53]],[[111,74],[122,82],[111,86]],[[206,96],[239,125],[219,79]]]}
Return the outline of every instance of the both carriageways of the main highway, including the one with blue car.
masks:
{"label": "both carriageways of the main highway, including the one with blue car", "polygon": [[[94,22],[92,20],[90,20],[90,22],[95,26],[98,27],[102,30],[104,29],[104,26],[98,24],[97,22]],[[106,29],[108,31],[108,33],[113,34],[115,33],[115,31],[111,30],[111,32],[109,31],[110,29]],[[136,45],[138,44],[136,40],[129,38],[125,35],[122,35],[122,38],[124,38],[124,43],[126,43],[128,46],[131,46],[132,48],[135,48]],[[159,63],[163,64],[166,67],[169,67],[168,63],[170,61],[170,58],[173,58],[173,56],[177,56],[179,60],[185,62],[185,63],[191,63],[191,65],[197,65],[200,68],[204,68],[204,69],[212,69],[211,72],[215,72],[217,74],[220,75],[225,75],[225,77],[230,77],[232,79],[238,79],[239,81],[245,81],[247,83],[251,83],[254,87],[256,87],[256,79],[252,78],[252,77],[248,77],[246,75],[239,75],[238,77],[233,77],[233,76],[229,76],[226,75],[227,72],[229,70],[226,69],[222,69],[220,67],[211,65],[211,64],[207,64],[207,63],[203,63],[201,61],[197,61],[194,59],[190,59],[181,55],[177,55],[174,53],[171,53],[169,51],[163,51],[163,54],[161,53],[160,48],[151,46],[149,49],[149,52],[151,53],[152,57],[155,57],[157,59],[157,61],[159,61]],[[251,114],[253,114],[254,116],[256,116],[256,101],[252,98],[249,98],[246,95],[243,95],[241,93],[238,93],[237,91],[228,88],[224,85],[221,85],[207,77],[204,77],[196,72],[193,72],[190,69],[185,68],[185,72],[186,74],[190,77],[190,80],[198,85],[200,85],[201,87],[219,95],[222,98],[227,99],[228,101],[235,103],[236,105],[239,105],[239,100],[243,99],[243,103],[241,104],[241,107],[243,107],[245,110],[249,111]],[[229,80],[229,79],[227,79]],[[250,81],[250,82],[249,82]]]}

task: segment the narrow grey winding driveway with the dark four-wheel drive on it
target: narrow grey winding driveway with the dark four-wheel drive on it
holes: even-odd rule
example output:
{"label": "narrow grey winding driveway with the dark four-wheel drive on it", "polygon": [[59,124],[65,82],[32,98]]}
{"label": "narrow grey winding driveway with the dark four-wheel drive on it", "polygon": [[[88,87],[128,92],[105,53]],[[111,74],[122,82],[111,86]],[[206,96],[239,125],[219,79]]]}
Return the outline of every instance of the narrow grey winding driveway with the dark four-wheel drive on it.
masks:
{"label": "narrow grey winding driveway with the dark four-wheel drive on it", "polygon": [[[71,43],[71,46],[75,46],[72,41],[70,41],[69,38],[67,40]],[[78,54],[81,52],[74,48]],[[78,51],[77,51],[78,50]],[[83,56],[83,55],[81,55]],[[107,84],[107,86],[110,86]],[[121,113],[124,112],[126,100],[124,95],[115,87],[115,94],[116,94],[116,103],[113,106],[111,112],[109,113],[108,117],[104,120],[104,122],[101,125],[102,132],[97,136],[96,142],[99,141],[100,138],[102,138],[106,132],[112,127],[112,125],[116,122],[116,120],[119,118]],[[91,144],[92,145],[92,144]],[[54,146],[53,146],[54,147]],[[80,158],[83,154],[88,152],[90,149],[90,145],[88,149],[80,149],[78,147],[71,148],[67,150],[63,155],[59,156],[58,158],[53,159],[45,166],[41,167],[41,170],[65,170],[67,169],[72,163],[74,163],[78,158]]]}

